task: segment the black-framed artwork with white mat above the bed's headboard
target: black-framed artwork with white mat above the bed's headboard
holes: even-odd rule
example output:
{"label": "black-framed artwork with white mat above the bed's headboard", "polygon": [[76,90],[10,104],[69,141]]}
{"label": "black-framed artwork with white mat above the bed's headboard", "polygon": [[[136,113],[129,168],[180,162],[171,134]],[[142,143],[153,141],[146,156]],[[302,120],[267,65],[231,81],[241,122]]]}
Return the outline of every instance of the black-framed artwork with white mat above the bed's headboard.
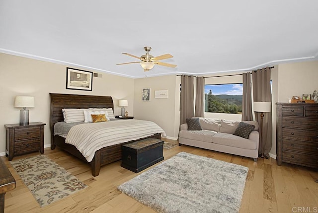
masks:
{"label": "black-framed artwork with white mat above the bed's headboard", "polygon": [[66,89],[92,91],[93,72],[66,68]]}

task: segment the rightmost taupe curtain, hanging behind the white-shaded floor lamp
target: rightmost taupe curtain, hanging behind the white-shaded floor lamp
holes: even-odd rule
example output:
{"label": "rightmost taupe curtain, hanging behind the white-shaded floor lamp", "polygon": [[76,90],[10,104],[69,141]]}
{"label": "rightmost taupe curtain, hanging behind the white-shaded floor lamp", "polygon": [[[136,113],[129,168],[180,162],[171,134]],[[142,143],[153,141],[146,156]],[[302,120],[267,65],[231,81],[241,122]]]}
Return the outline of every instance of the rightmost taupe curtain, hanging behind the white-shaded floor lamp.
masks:
{"label": "rightmost taupe curtain, hanging behind the white-shaded floor lamp", "polygon": [[[272,102],[272,93],[270,87],[270,68],[252,71],[253,80],[253,99],[254,102]],[[255,119],[260,124],[260,112],[255,112]],[[264,154],[269,157],[268,153],[272,148],[272,111],[265,112],[263,118],[263,142]],[[259,146],[259,153],[262,147]]]}

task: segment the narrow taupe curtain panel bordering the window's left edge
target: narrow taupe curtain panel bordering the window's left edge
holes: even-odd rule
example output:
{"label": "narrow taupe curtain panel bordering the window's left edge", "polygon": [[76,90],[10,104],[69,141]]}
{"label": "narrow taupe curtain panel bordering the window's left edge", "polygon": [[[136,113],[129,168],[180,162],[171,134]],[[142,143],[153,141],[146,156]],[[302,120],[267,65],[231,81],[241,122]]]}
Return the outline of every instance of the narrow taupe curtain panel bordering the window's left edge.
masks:
{"label": "narrow taupe curtain panel bordering the window's left edge", "polygon": [[196,78],[195,117],[204,117],[204,77]]}

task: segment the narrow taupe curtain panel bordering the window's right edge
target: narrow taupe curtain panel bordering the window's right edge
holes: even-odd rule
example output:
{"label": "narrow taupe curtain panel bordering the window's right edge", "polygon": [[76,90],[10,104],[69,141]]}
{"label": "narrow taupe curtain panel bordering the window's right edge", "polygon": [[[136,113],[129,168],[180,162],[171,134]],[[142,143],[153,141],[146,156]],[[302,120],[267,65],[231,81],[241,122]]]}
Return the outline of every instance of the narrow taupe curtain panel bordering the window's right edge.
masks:
{"label": "narrow taupe curtain panel bordering the window's right edge", "polygon": [[243,73],[242,121],[253,120],[250,73]]}

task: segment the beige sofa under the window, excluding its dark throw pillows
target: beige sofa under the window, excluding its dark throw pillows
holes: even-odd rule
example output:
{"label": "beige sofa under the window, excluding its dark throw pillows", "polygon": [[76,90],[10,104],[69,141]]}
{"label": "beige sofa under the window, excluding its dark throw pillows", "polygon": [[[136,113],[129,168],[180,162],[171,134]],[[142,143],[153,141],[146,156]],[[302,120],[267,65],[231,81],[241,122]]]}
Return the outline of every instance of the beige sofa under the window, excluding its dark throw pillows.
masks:
{"label": "beige sofa under the window, excluding its dark throw pillows", "polygon": [[257,161],[259,133],[257,121],[244,121],[255,125],[248,138],[233,135],[239,125],[239,121],[223,120],[215,118],[199,118],[202,130],[188,130],[186,123],[180,126],[179,145],[210,149],[245,157]]}

